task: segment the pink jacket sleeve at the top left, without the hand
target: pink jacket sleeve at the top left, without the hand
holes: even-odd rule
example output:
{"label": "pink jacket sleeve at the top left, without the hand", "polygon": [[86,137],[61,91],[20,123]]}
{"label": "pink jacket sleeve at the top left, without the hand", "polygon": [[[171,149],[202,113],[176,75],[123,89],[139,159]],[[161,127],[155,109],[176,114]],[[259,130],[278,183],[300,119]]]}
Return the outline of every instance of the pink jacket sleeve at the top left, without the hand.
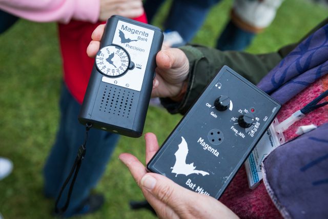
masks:
{"label": "pink jacket sleeve at the top left, without the hand", "polygon": [[94,0],[0,0],[0,9],[35,22],[60,22],[71,19],[95,23],[100,1]]}

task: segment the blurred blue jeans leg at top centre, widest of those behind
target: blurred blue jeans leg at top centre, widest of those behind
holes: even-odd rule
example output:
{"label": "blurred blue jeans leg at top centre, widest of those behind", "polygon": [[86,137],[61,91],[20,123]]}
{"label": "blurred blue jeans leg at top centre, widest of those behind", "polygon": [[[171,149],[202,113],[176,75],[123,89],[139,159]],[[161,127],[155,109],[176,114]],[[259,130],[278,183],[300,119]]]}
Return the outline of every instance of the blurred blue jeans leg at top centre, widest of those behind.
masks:
{"label": "blurred blue jeans leg at top centre, widest of those behind", "polygon": [[209,10],[220,0],[174,0],[165,29],[177,31],[185,42],[191,41],[202,26]]}

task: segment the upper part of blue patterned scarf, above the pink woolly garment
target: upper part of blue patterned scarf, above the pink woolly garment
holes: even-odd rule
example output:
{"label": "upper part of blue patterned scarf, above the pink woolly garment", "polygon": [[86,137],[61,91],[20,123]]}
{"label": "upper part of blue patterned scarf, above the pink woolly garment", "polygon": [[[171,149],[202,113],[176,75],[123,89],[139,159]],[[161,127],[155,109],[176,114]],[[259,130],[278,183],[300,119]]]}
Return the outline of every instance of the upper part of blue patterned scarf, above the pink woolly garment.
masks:
{"label": "upper part of blue patterned scarf, above the pink woolly garment", "polygon": [[300,43],[257,85],[281,104],[328,73],[328,25]]}

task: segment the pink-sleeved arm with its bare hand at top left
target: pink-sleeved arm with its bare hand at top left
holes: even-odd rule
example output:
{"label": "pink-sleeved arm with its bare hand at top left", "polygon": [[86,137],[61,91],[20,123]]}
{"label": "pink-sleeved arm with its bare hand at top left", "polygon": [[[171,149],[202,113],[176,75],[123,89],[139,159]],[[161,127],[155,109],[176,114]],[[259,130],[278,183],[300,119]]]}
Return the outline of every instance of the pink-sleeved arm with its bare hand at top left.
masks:
{"label": "pink-sleeved arm with its bare hand at top left", "polygon": [[0,0],[0,9],[30,21],[64,24],[71,19],[96,23],[114,14],[134,18],[144,13],[141,0]]}

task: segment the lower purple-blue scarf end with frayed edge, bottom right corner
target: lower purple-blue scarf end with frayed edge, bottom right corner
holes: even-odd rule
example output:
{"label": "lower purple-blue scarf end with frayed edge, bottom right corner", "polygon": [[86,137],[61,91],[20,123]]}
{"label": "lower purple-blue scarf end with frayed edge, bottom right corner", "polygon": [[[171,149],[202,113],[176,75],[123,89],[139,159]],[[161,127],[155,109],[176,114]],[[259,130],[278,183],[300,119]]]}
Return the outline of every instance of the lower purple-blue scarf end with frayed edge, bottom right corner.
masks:
{"label": "lower purple-blue scarf end with frayed edge, bottom right corner", "polygon": [[328,218],[328,123],[275,149],[263,169],[284,218]]}

